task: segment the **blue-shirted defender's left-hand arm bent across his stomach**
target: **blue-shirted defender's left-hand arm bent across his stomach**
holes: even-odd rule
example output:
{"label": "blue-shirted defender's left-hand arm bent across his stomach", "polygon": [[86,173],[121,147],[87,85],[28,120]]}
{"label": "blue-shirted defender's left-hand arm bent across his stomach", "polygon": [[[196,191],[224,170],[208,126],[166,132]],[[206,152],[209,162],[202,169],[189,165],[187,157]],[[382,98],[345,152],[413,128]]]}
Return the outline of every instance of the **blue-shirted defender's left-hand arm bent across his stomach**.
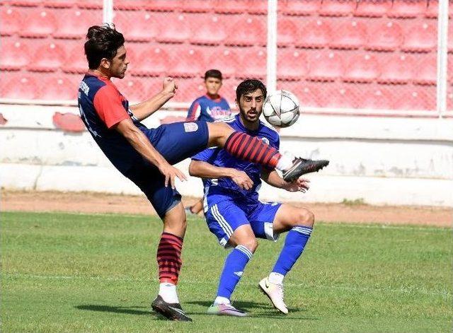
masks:
{"label": "blue-shirted defender's left-hand arm bent across his stomach", "polygon": [[251,189],[253,181],[246,173],[234,168],[221,168],[202,160],[192,160],[189,174],[200,178],[231,178],[241,189]]}

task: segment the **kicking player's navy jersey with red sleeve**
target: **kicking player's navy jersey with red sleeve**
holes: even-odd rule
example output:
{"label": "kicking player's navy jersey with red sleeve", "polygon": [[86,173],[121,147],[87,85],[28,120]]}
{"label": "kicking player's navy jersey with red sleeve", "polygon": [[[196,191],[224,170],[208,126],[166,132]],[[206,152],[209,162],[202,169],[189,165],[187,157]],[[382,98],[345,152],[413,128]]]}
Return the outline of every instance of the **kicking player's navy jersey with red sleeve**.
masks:
{"label": "kicking player's navy jersey with red sleeve", "polygon": [[125,174],[142,156],[113,127],[130,118],[135,126],[149,131],[129,110],[129,102],[108,78],[86,74],[79,86],[79,111],[88,132],[115,168]]}

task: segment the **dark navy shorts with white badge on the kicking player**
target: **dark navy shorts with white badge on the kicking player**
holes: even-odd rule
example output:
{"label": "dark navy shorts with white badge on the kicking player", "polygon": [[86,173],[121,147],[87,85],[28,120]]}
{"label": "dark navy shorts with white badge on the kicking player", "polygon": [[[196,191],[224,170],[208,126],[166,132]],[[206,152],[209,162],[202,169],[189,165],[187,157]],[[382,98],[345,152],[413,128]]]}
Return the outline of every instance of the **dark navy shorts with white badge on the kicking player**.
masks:
{"label": "dark navy shorts with white badge on the kicking player", "polygon": [[[168,163],[176,164],[207,148],[209,132],[206,122],[175,122],[164,124],[145,133],[151,144]],[[164,218],[176,206],[181,196],[170,185],[165,187],[165,177],[147,160],[135,163],[127,171],[128,177],[147,196],[157,214]]]}

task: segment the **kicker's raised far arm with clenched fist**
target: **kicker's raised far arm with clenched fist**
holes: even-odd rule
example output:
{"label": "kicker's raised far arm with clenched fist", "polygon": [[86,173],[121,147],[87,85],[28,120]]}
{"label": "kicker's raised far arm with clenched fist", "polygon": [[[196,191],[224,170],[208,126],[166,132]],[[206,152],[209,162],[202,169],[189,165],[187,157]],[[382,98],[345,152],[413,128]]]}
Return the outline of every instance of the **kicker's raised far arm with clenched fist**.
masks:
{"label": "kicker's raised far arm with clenched fist", "polygon": [[173,96],[176,94],[176,86],[175,80],[173,78],[164,78],[164,83],[162,84],[162,90],[154,95],[153,97],[149,98],[149,100],[145,100],[142,103],[131,105],[130,110],[134,114],[134,116],[142,121],[146,119],[154,112],[159,110],[162,105],[168,102]]}

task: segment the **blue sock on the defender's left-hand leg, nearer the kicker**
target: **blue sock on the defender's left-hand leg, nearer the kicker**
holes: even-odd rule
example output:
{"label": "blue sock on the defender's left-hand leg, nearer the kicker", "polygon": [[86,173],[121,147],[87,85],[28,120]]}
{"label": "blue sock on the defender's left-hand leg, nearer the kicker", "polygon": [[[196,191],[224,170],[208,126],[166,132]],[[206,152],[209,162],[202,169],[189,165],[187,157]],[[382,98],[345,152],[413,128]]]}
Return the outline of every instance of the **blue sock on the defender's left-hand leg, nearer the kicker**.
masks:
{"label": "blue sock on the defender's left-hand leg, nearer the kicker", "polygon": [[230,252],[225,259],[224,270],[220,276],[217,297],[231,298],[236,284],[241,279],[243,269],[253,253],[243,245],[238,245]]}

